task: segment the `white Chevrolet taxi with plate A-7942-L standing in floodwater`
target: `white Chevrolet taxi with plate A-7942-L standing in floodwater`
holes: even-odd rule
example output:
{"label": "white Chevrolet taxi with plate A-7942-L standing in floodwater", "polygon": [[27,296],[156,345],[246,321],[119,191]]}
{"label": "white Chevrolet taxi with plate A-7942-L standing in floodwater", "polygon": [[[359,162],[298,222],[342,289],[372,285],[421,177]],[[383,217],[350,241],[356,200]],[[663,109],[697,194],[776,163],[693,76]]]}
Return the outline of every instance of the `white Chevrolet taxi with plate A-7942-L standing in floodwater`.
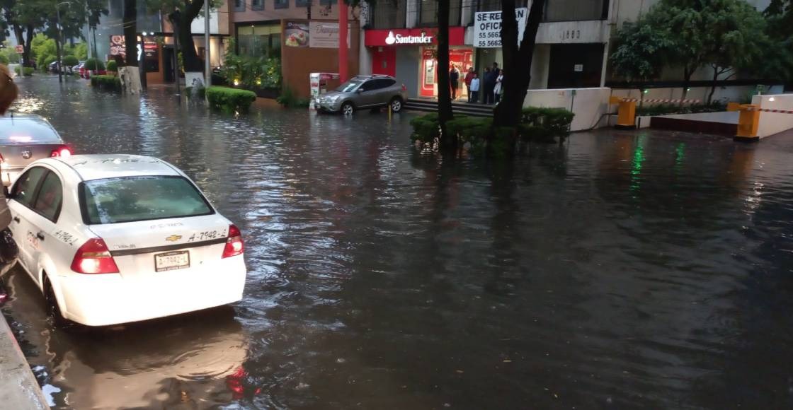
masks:
{"label": "white Chevrolet taxi with plate A-7942-L standing in floodwater", "polygon": [[165,161],[42,159],[8,196],[20,263],[56,318],[115,325],[242,298],[239,229]]}

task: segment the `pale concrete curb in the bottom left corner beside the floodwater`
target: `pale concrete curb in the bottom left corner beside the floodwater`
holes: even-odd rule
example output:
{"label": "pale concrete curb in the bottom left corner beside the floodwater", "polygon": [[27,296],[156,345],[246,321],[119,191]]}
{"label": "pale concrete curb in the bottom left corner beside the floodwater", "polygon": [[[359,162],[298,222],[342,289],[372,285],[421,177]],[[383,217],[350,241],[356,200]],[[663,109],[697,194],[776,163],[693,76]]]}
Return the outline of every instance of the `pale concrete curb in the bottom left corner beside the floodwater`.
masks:
{"label": "pale concrete curb in the bottom left corner beside the floodwater", "polygon": [[0,407],[19,410],[48,409],[47,399],[30,365],[0,314]]}

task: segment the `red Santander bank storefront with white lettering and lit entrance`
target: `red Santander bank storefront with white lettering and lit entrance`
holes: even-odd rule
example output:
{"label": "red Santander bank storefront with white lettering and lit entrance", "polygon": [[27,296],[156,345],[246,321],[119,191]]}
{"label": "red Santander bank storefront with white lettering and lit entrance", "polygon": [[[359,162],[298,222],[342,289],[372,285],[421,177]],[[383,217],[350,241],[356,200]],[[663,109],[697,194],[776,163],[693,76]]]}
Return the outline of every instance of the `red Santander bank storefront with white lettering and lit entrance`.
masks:
{"label": "red Santander bank storefront with white lettering and lit entrance", "polygon": [[[397,78],[409,97],[438,97],[437,38],[436,28],[366,30],[364,45],[372,58],[372,74]],[[473,47],[465,46],[465,28],[450,27],[449,60],[460,70],[458,100],[467,99],[462,79],[468,67],[473,67],[473,55]]]}

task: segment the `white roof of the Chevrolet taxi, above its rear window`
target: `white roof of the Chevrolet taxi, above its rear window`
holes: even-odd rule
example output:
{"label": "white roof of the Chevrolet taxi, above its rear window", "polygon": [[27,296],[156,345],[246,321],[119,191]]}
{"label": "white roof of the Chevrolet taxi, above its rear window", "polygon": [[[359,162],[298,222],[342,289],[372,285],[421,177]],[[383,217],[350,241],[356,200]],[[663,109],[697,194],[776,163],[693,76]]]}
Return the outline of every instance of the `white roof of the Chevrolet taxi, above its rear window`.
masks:
{"label": "white roof of the Chevrolet taxi, above its rear window", "polygon": [[165,161],[142,155],[72,155],[56,158],[74,169],[82,180],[117,177],[178,176],[180,173]]}

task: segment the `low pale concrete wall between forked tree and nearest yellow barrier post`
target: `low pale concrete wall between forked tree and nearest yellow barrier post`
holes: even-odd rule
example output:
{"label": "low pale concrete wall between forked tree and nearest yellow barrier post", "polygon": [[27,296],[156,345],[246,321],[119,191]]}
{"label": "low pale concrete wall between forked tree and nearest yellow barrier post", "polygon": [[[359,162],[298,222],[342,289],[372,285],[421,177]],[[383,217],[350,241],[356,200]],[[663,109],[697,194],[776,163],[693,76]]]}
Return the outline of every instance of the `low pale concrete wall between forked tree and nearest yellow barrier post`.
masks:
{"label": "low pale concrete wall between forked tree and nearest yellow barrier post", "polygon": [[553,107],[571,109],[576,113],[571,131],[603,127],[607,123],[603,114],[608,112],[608,97],[611,89],[531,89],[523,101],[524,107]]}

